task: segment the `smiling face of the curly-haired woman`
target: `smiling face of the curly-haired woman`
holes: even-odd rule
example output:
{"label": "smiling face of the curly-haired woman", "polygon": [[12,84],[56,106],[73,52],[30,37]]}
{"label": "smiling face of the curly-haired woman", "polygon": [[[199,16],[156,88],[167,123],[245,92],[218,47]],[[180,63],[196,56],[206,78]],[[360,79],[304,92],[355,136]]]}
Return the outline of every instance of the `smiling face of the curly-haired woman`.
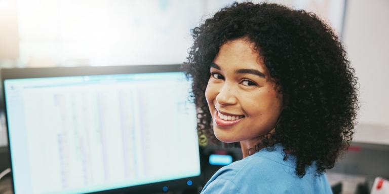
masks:
{"label": "smiling face of the curly-haired woman", "polygon": [[205,96],[222,142],[258,140],[274,129],[282,109],[282,95],[253,48],[244,38],[229,41],[210,68]]}

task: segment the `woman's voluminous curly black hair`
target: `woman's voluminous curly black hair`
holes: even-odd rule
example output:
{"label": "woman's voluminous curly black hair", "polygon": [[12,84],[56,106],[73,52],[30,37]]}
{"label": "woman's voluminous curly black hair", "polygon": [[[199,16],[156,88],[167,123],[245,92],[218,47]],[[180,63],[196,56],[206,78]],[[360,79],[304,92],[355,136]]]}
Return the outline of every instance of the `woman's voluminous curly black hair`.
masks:
{"label": "woman's voluminous curly black hair", "polygon": [[192,80],[200,136],[218,142],[205,98],[210,64],[221,45],[245,37],[264,58],[284,101],[275,133],[261,146],[282,143],[284,160],[296,157],[299,177],[315,161],[318,174],[334,167],[352,140],[359,104],[357,77],[330,26],[304,10],[246,2],[221,9],[191,32],[184,69]]}

